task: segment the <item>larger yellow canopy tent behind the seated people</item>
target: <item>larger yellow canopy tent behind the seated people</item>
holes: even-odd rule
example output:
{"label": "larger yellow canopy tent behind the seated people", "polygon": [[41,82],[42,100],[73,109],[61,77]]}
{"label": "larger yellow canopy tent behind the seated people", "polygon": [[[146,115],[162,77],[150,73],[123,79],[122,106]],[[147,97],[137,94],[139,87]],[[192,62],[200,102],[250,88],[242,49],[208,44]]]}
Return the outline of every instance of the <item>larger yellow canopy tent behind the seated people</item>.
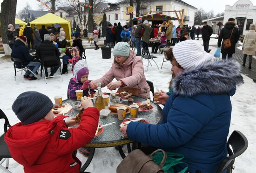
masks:
{"label": "larger yellow canopy tent behind the seated people", "polygon": [[38,30],[42,27],[42,25],[45,25],[45,28],[47,29],[48,26],[52,27],[56,23],[60,24],[66,33],[66,40],[71,40],[70,22],[62,19],[59,16],[54,15],[53,13],[47,13],[29,23],[31,28],[34,28],[34,26],[37,26]]}

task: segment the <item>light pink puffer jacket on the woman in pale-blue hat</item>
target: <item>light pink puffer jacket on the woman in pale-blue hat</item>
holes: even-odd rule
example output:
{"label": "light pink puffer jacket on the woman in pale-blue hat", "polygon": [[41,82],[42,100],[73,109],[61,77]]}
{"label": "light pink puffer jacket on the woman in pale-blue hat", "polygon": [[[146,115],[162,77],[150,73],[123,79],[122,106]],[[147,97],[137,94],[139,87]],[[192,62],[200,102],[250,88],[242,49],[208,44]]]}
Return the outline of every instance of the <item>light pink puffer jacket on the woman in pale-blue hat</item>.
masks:
{"label": "light pink puffer jacket on the woman in pale-blue hat", "polygon": [[116,80],[122,80],[126,87],[140,88],[140,96],[146,99],[150,98],[150,87],[144,75],[142,60],[140,57],[136,57],[132,50],[130,50],[130,55],[123,64],[118,65],[114,60],[108,72],[102,78],[94,80],[94,82],[101,82],[101,87],[105,87],[114,78]]}

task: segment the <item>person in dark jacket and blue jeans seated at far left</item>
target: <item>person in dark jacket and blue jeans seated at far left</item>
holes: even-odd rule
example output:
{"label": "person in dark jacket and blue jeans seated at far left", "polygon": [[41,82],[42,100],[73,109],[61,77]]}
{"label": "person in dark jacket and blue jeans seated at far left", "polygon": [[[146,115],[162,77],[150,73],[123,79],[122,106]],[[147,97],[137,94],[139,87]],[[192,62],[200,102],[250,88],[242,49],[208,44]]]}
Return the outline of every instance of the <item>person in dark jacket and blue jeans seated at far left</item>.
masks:
{"label": "person in dark jacket and blue jeans seated at far left", "polygon": [[[30,56],[27,45],[27,38],[25,36],[20,36],[15,41],[12,49],[12,57],[19,58],[23,64],[23,66],[28,67],[33,73],[36,73],[38,68],[40,67],[40,62],[33,61],[33,57]],[[15,62],[17,67],[20,67],[20,63]],[[31,73],[29,70],[23,75],[25,79],[28,80],[36,80],[37,78],[34,74]]]}

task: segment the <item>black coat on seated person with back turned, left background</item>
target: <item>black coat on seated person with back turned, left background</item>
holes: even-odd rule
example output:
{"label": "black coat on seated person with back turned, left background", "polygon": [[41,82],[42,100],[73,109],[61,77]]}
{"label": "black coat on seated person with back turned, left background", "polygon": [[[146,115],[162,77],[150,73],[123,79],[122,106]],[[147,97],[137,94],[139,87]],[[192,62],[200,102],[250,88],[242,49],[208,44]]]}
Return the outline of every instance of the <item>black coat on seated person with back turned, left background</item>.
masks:
{"label": "black coat on seated person with back turned, left background", "polygon": [[51,43],[49,40],[44,40],[43,43],[41,43],[38,47],[36,47],[35,56],[41,60],[44,60],[44,57],[47,56],[55,56],[56,60],[49,63],[45,63],[46,66],[54,66],[61,64],[60,56],[61,53],[59,49]]}

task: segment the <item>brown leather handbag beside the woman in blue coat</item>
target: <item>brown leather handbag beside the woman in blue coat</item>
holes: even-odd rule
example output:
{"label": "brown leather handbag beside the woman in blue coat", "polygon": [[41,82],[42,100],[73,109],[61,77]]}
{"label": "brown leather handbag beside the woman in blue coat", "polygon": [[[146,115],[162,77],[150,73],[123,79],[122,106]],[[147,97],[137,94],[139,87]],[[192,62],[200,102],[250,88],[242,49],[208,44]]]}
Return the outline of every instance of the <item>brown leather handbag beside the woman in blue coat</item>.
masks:
{"label": "brown leather handbag beside the woman in blue coat", "polygon": [[[160,165],[157,165],[152,159],[157,152],[163,153]],[[147,156],[140,149],[136,149],[126,156],[116,168],[116,173],[164,173],[162,166],[166,160],[165,151],[155,150],[150,156]]]}

